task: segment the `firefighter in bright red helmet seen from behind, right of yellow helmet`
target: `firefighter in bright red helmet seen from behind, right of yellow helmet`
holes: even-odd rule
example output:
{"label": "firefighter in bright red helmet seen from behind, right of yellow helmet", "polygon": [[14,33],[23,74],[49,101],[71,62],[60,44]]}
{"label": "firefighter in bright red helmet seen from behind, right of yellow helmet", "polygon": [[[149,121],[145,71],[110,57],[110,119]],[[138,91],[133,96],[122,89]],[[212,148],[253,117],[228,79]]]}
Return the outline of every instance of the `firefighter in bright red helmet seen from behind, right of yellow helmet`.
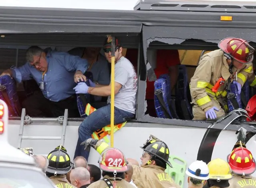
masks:
{"label": "firefighter in bright red helmet seen from behind, right of yellow helmet", "polygon": [[252,153],[245,147],[234,148],[228,155],[234,178],[229,180],[230,188],[256,188],[256,178],[250,174],[255,172],[255,160]]}

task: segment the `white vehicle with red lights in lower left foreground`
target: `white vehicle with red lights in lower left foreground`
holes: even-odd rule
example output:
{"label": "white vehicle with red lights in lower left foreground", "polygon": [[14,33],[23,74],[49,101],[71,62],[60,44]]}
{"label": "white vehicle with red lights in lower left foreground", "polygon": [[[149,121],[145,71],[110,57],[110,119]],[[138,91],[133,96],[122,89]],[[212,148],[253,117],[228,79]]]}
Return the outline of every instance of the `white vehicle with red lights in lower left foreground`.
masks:
{"label": "white vehicle with red lights in lower left foreground", "polygon": [[0,188],[54,188],[34,159],[8,143],[8,107],[0,100]]}

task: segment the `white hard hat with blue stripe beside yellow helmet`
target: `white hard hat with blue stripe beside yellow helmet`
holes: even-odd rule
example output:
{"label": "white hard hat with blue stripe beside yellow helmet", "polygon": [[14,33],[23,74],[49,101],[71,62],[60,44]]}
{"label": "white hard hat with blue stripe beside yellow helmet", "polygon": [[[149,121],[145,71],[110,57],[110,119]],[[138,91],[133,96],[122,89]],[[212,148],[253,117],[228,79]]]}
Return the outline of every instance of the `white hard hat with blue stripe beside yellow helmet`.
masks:
{"label": "white hard hat with blue stripe beside yellow helmet", "polygon": [[209,168],[204,161],[196,160],[189,165],[186,170],[186,174],[191,178],[195,178],[198,180],[208,180]]}

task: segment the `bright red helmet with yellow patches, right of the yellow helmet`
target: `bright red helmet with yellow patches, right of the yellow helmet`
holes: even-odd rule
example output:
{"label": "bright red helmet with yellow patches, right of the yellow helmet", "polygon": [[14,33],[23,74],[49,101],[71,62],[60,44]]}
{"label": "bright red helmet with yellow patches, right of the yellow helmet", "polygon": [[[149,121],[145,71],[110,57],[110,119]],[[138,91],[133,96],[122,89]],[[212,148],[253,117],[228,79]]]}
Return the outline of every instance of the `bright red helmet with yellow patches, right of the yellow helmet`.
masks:
{"label": "bright red helmet with yellow patches, right of the yellow helmet", "polygon": [[228,155],[228,164],[235,174],[247,175],[252,174],[256,170],[252,153],[244,147],[235,148]]}

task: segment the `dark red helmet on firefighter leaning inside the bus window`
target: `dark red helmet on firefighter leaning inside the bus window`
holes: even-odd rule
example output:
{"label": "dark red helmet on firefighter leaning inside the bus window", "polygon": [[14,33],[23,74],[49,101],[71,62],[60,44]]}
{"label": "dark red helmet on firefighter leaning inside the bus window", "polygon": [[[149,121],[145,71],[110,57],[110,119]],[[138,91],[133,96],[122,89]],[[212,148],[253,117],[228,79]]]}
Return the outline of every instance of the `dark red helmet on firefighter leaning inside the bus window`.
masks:
{"label": "dark red helmet on firefighter leaning inside the bus window", "polygon": [[252,62],[254,48],[246,40],[228,37],[221,40],[218,47],[240,63]]}

